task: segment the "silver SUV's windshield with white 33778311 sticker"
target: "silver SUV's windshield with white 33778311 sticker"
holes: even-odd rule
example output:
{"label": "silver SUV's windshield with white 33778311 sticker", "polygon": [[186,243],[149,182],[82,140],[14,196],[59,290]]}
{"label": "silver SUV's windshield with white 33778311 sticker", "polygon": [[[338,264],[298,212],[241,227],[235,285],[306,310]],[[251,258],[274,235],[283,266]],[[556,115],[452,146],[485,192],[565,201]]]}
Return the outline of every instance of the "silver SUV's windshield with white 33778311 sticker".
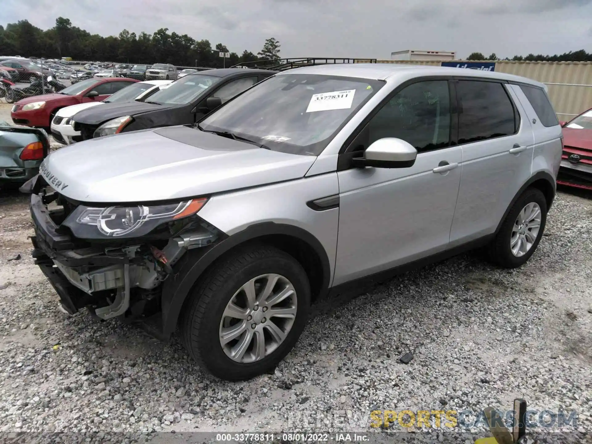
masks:
{"label": "silver SUV's windshield with white 33778311 sticker", "polygon": [[312,74],[278,75],[201,121],[271,150],[318,156],[384,82]]}

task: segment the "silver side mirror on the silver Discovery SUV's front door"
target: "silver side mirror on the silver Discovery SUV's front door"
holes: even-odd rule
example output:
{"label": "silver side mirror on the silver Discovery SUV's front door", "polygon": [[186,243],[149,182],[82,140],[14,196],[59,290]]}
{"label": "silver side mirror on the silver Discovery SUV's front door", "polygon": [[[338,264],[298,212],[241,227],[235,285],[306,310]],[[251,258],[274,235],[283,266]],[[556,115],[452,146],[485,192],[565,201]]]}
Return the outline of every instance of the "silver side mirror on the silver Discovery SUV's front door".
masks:
{"label": "silver side mirror on the silver Discovery SUV's front door", "polygon": [[385,137],[374,141],[363,153],[363,157],[354,157],[353,166],[364,168],[408,168],[417,159],[417,150],[410,143]]}

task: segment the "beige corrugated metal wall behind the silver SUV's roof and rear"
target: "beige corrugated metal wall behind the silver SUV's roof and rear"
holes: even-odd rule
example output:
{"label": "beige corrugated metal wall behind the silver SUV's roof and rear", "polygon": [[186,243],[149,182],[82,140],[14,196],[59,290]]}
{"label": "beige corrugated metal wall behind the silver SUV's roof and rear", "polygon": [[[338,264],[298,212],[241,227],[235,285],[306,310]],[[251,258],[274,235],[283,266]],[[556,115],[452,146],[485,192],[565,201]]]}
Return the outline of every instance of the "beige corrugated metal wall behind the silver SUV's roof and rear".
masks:
{"label": "beige corrugated metal wall behind the silver SUV's roof and rear", "polygon": [[[439,60],[377,60],[379,63],[410,63],[435,65],[449,62]],[[475,60],[455,60],[458,63],[475,63]],[[481,62],[478,62],[481,63]],[[491,63],[489,60],[483,63]],[[581,112],[592,108],[592,62],[511,62],[498,60],[495,71],[516,74],[545,83],[549,98],[559,120],[571,120]]]}

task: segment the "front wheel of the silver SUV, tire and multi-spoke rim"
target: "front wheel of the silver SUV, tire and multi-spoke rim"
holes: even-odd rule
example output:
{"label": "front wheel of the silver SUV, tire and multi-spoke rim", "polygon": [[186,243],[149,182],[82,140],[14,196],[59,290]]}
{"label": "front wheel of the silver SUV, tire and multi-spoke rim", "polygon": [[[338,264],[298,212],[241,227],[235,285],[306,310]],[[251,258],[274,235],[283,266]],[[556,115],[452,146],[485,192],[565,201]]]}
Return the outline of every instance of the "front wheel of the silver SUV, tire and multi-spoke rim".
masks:
{"label": "front wheel of the silver SUV, tire and multi-spoke rim", "polygon": [[225,256],[195,285],[180,320],[182,342],[215,377],[250,379],[294,347],[309,306],[300,263],[275,247],[252,245]]}

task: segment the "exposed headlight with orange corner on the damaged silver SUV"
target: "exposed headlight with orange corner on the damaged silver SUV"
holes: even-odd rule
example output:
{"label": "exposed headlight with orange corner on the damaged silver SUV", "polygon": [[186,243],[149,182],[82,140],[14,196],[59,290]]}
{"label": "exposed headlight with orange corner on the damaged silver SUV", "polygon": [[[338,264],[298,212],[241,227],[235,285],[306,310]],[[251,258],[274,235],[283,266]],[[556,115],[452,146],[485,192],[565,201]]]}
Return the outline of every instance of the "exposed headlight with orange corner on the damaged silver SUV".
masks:
{"label": "exposed headlight with orange corner on the damaged silver SUV", "polygon": [[79,205],[64,224],[81,239],[128,238],[146,236],[161,224],[193,215],[207,198],[173,204],[136,205],[133,207],[85,207]]}

